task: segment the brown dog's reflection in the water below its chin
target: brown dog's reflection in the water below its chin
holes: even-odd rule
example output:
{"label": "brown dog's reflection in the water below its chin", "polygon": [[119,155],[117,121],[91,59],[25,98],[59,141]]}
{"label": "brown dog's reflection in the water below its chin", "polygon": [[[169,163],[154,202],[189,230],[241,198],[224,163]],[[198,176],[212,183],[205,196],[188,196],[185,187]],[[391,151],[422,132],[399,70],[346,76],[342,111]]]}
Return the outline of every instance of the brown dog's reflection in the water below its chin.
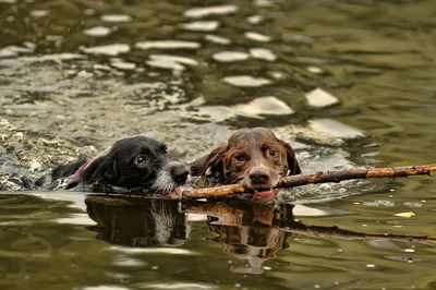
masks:
{"label": "brown dog's reflection in the water below its chin", "polygon": [[206,214],[208,241],[221,243],[225,252],[246,259],[247,267],[234,267],[232,271],[262,274],[263,263],[276,257],[276,253],[289,247],[286,231],[293,223],[292,205],[258,205],[237,200],[219,203],[184,203],[185,213]]}

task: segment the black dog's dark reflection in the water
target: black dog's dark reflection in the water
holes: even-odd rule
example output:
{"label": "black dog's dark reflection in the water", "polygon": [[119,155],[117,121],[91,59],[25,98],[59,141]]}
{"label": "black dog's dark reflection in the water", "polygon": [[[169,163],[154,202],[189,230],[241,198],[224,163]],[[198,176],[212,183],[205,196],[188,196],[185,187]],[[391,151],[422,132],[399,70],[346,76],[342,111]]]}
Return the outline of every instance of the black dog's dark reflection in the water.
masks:
{"label": "black dog's dark reflection in the water", "polygon": [[190,227],[178,202],[89,195],[85,203],[99,240],[130,246],[180,245],[187,240]]}

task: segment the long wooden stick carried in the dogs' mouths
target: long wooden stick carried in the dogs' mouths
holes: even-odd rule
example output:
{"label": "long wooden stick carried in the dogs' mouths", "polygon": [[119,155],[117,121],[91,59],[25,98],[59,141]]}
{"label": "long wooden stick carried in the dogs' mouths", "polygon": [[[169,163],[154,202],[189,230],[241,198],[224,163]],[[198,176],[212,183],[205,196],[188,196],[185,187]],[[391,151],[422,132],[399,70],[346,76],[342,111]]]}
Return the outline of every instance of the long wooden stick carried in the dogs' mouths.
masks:
{"label": "long wooden stick carried in the dogs' mouths", "polygon": [[[325,182],[340,182],[351,179],[365,179],[365,178],[399,178],[409,176],[432,176],[436,171],[436,164],[425,166],[401,166],[388,168],[356,168],[339,171],[325,171],[314,174],[299,174],[290,176],[280,179],[277,189],[280,188],[294,188],[306,185],[311,183],[325,183]],[[222,197],[226,195],[238,194],[247,192],[250,189],[243,184],[230,184],[217,188],[186,190],[182,192],[182,200],[208,198],[208,197]]]}

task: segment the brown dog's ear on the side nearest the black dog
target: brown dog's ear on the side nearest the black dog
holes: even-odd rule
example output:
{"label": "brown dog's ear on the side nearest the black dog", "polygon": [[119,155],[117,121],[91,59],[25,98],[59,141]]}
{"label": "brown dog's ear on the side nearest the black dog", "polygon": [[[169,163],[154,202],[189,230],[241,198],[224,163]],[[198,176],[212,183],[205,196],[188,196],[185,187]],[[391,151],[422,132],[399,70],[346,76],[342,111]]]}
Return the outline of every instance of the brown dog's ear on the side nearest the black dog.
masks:
{"label": "brown dog's ear on the side nearest the black dog", "polygon": [[220,146],[213,149],[208,155],[205,155],[189,165],[192,176],[206,176],[208,169],[210,172],[219,172],[222,174],[222,159],[226,155],[227,146]]}

